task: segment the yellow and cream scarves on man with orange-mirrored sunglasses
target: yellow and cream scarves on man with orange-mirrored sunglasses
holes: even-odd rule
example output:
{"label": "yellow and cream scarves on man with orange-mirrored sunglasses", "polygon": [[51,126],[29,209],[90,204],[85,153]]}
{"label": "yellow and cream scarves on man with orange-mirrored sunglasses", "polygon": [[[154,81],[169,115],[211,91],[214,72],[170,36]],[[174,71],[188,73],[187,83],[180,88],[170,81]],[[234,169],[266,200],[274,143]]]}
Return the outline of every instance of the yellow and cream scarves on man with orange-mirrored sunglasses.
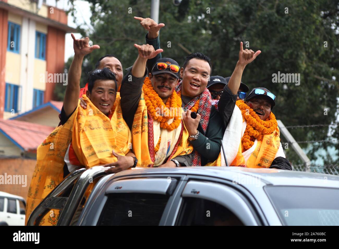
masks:
{"label": "yellow and cream scarves on man with orange-mirrored sunglasses", "polygon": [[[178,113],[178,115],[181,115],[181,113]],[[181,125],[184,126],[183,131],[182,131],[182,136],[181,136],[179,143],[177,144],[176,143],[177,141],[173,141],[173,139],[171,140],[171,142],[168,142],[168,140],[166,139],[174,138],[174,137],[177,139],[178,136],[176,136],[175,134],[172,135],[172,133],[178,133],[178,132],[180,133],[181,126],[179,126],[177,129],[174,129],[172,131],[168,131],[167,129],[160,128],[160,123],[154,121],[153,129],[152,129],[153,134],[152,136],[149,136],[149,132],[152,132],[152,131],[149,130],[148,125],[151,125],[152,122],[150,122],[149,124],[148,118],[149,117],[147,113],[147,106],[146,106],[146,102],[144,99],[144,90],[142,90],[141,98],[139,100],[138,108],[137,108],[137,111],[135,112],[134,121],[132,125],[132,146],[133,146],[134,154],[136,158],[138,159],[138,164],[137,164],[138,167],[158,166],[158,165],[154,165],[155,162],[151,158],[150,149],[153,150],[153,148],[149,148],[149,144],[152,144],[154,146],[153,143],[149,143],[148,141],[149,137],[152,137],[153,139],[153,134],[154,136],[159,136],[160,134],[160,138],[161,138],[160,148],[157,152],[155,152],[155,159],[156,161],[160,162],[159,165],[162,163],[165,163],[164,159],[166,157],[165,155],[167,154],[166,153],[167,147],[169,147],[169,149],[174,152],[174,153],[173,152],[171,153],[171,156],[168,157],[168,159],[175,158],[178,155],[190,154],[192,152],[193,146],[188,141],[188,132],[183,122],[181,122]],[[171,120],[168,120],[168,122],[171,122]],[[168,145],[168,143],[170,143],[170,145]],[[160,160],[159,160],[159,157],[161,157]]]}

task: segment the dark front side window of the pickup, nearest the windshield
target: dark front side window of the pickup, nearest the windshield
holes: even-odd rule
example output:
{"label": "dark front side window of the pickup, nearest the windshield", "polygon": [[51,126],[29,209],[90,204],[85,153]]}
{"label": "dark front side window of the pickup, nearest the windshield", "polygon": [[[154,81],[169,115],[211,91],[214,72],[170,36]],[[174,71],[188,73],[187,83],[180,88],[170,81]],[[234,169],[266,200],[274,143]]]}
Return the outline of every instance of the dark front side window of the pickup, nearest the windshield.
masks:
{"label": "dark front side window of the pickup, nearest the windshield", "polygon": [[185,197],[178,215],[179,226],[243,226],[226,207],[205,199]]}

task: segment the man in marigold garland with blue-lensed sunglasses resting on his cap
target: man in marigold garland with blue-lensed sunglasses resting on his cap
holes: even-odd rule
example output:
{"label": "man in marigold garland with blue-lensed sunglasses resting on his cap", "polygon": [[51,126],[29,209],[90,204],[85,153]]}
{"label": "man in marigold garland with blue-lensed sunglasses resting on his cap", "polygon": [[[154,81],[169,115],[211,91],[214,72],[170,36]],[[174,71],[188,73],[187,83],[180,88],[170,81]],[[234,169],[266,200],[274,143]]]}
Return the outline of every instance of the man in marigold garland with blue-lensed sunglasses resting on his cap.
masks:
{"label": "man in marigold garland with blue-lensed sunglasses resting on his cap", "polygon": [[[240,86],[244,69],[244,66],[239,68],[241,61],[239,53],[239,61],[228,84],[232,94]],[[232,94],[224,88],[218,103],[221,113],[225,111],[225,103],[234,101]],[[258,87],[250,91],[245,101],[236,101],[222,140],[225,151],[221,152],[221,166],[226,165],[225,154],[230,166],[292,170],[282,149],[277,120],[271,111],[276,104],[275,99],[271,91]]]}

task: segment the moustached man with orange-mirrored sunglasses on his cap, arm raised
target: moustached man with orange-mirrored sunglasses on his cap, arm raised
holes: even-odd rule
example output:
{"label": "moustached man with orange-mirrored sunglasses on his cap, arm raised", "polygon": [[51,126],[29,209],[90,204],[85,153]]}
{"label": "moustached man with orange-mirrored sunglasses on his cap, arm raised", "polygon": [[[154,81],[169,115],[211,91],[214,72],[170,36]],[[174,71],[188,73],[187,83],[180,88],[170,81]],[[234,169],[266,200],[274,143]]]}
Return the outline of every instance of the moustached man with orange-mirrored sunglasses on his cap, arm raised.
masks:
{"label": "moustached man with orange-mirrored sunglasses on his cap, arm raised", "polygon": [[147,76],[146,62],[162,52],[148,44],[134,45],[138,58],[122,80],[122,115],[132,132],[139,167],[190,166],[193,147],[182,122],[181,99],[175,92],[179,64],[156,61]]}

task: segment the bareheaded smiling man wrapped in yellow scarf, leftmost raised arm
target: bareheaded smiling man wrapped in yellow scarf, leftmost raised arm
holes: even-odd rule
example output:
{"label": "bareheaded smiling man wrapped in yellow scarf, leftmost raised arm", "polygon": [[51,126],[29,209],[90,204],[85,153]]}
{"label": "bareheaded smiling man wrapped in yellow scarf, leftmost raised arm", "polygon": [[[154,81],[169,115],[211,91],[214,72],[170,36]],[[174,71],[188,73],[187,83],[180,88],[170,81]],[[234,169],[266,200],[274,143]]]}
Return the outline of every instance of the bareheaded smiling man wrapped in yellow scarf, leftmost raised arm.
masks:
{"label": "bareheaded smiling man wrapped in yellow scarf, leftmost raised arm", "polygon": [[[121,115],[117,81],[111,70],[103,68],[89,73],[88,90],[82,96],[87,108],[80,106],[84,56],[100,47],[89,46],[88,37],[75,39],[71,35],[75,55],[68,71],[62,124],[37,149],[37,165],[27,196],[26,223],[34,208],[63,180],[65,169],[72,172],[104,165],[109,167],[106,172],[114,173],[137,163],[130,150],[132,136]],[[57,224],[59,210],[53,211],[53,216],[46,214],[40,225]]]}

